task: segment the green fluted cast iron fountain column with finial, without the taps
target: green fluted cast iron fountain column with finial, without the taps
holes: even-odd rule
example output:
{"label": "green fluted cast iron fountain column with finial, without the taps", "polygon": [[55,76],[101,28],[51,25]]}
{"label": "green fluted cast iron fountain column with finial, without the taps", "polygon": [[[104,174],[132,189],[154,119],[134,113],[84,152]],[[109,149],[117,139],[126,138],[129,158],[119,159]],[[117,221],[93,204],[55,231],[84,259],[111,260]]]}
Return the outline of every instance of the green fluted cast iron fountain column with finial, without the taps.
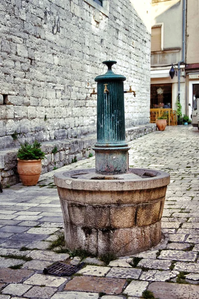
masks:
{"label": "green fluted cast iron fountain column with finial, without the taps", "polygon": [[113,73],[116,61],[103,61],[108,70],[97,76],[96,173],[112,175],[128,171],[128,144],[125,142],[124,85],[126,77]]}

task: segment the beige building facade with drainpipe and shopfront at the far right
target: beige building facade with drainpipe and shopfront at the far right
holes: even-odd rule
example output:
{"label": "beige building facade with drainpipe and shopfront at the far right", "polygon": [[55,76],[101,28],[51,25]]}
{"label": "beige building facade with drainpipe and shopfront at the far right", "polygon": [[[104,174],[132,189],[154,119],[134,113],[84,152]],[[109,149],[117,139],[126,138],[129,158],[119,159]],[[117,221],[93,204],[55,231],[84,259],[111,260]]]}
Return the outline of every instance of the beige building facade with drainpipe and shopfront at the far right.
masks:
{"label": "beige building facade with drainpipe and shopfront at the far right", "polygon": [[152,0],[151,108],[176,110],[179,99],[191,117],[189,103],[199,93],[198,19],[198,0]]}

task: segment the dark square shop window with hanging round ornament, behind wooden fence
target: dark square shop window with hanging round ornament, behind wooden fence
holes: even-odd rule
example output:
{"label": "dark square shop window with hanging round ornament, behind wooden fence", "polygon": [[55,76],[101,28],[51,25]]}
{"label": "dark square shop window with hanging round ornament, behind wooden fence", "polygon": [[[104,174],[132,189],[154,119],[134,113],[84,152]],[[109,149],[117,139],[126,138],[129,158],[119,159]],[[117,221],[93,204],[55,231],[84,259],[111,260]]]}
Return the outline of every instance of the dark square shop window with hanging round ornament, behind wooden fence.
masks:
{"label": "dark square shop window with hanging round ornament, behind wooden fence", "polygon": [[172,84],[151,85],[150,108],[172,108]]}

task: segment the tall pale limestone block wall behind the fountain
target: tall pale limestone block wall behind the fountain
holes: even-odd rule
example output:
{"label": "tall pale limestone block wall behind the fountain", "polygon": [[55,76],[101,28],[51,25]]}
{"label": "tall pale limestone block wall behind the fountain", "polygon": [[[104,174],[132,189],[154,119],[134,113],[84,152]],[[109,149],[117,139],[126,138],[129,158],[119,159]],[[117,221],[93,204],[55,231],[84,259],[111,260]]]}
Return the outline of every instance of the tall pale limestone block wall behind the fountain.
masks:
{"label": "tall pale limestone block wall behind the fountain", "polygon": [[103,2],[106,13],[94,0],[0,1],[0,149],[95,132],[87,82],[107,59],[136,91],[125,95],[126,127],[149,122],[150,0],[142,14],[135,0]]}

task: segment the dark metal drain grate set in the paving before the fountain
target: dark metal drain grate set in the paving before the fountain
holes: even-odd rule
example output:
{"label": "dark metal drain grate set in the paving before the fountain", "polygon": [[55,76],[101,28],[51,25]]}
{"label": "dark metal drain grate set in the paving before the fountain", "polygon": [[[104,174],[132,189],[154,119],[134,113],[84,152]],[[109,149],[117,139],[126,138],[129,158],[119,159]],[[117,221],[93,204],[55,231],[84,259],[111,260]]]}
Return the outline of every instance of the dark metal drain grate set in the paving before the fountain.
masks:
{"label": "dark metal drain grate set in the paving before the fountain", "polygon": [[48,268],[44,268],[43,273],[56,276],[71,276],[81,270],[84,265],[84,263],[81,263],[78,266],[72,266],[62,262],[57,262]]}

